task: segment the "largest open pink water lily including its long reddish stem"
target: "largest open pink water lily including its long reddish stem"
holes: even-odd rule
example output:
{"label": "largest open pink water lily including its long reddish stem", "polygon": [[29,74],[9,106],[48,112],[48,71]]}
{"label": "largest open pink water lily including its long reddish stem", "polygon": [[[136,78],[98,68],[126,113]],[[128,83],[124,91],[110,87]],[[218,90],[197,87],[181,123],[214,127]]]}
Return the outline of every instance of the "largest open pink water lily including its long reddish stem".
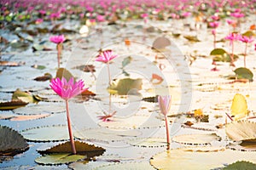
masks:
{"label": "largest open pink water lily including its long reddish stem", "polygon": [[77,151],[75,149],[73,141],[72,126],[69,116],[68,99],[71,99],[76,95],[81,94],[84,90],[87,90],[87,88],[84,88],[84,82],[82,80],[79,80],[79,82],[74,82],[73,77],[70,78],[68,82],[65,77],[62,77],[61,79],[57,77],[51,80],[49,86],[55,91],[56,94],[61,96],[62,99],[65,99],[69,139],[73,154],[76,154]]}

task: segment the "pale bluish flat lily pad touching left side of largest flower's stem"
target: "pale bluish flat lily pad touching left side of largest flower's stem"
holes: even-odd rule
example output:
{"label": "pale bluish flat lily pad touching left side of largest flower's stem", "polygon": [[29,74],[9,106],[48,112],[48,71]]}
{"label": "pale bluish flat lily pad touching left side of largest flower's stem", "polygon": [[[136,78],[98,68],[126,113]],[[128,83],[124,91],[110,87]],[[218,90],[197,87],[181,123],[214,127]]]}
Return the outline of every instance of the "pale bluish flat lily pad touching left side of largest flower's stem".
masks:
{"label": "pale bluish flat lily pad touching left side of largest flower's stem", "polygon": [[20,132],[25,139],[33,142],[64,141],[69,139],[67,126],[35,127]]}

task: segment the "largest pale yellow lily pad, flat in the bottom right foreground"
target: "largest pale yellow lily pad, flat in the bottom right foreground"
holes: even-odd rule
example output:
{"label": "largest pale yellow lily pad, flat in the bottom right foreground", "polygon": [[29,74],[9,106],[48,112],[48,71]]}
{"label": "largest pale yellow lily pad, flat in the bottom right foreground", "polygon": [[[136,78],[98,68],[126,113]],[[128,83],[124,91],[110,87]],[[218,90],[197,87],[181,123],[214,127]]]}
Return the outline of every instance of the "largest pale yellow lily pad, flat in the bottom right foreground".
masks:
{"label": "largest pale yellow lily pad, flat in the bottom right foreground", "polygon": [[166,150],[150,159],[157,169],[214,169],[235,161],[256,163],[256,152],[225,150],[218,147],[192,147]]}

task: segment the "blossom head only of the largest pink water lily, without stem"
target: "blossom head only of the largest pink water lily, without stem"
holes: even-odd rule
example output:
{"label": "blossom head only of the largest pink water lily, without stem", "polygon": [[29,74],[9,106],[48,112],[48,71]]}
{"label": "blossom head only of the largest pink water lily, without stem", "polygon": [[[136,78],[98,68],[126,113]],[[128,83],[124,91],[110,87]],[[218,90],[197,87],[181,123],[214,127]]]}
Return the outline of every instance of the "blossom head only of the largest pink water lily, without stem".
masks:
{"label": "blossom head only of the largest pink water lily, without stem", "polygon": [[56,94],[61,96],[62,99],[71,99],[78,94],[81,94],[87,88],[84,88],[84,82],[74,82],[73,77],[67,82],[66,78],[55,78],[50,82],[50,88],[52,88]]}

